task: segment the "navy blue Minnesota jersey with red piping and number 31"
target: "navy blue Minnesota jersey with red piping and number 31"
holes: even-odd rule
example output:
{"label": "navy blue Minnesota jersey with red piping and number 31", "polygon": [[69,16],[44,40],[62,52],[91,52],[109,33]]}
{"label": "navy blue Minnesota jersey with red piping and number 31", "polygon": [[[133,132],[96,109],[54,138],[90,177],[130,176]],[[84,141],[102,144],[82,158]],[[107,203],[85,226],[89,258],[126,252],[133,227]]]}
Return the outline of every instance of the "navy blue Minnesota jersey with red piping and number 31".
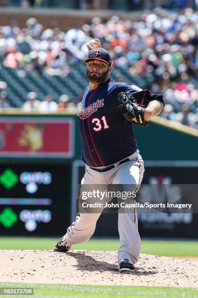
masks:
{"label": "navy blue Minnesota jersey with red piping and number 31", "polygon": [[[137,86],[116,83],[111,78],[89,91],[86,87],[78,111],[82,139],[82,160],[91,167],[112,165],[137,150],[132,123],[120,112],[118,93],[130,91],[139,104],[148,105],[162,95]],[[158,97],[158,98],[157,98]]]}

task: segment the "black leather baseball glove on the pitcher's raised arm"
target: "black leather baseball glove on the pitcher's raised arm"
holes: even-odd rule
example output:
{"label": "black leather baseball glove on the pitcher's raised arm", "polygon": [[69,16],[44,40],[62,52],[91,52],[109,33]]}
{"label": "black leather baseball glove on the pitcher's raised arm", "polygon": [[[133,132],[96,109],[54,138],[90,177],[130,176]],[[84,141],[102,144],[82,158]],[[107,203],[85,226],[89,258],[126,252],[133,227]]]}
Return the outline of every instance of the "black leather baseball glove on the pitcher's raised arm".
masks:
{"label": "black leather baseball glove on the pitcher's raised arm", "polygon": [[[145,107],[138,105],[132,93],[129,91],[120,92],[118,94],[118,99],[120,102],[119,109],[123,116],[130,122],[139,124],[140,126],[148,126],[148,121],[144,119]],[[137,123],[132,121],[132,118],[135,117]]]}

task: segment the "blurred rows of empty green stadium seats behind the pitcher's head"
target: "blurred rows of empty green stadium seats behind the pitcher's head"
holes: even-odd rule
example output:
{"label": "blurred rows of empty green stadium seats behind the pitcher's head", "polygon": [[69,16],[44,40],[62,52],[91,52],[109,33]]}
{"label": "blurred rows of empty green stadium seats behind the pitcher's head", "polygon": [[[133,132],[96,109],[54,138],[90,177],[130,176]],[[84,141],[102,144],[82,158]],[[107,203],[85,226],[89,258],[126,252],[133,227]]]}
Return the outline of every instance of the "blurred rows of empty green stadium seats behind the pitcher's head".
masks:
{"label": "blurred rows of empty green stadium seats behind the pitcher's head", "polygon": [[[145,87],[151,83],[148,82],[147,76],[145,78],[132,76],[125,69],[118,67],[114,68],[112,78],[115,81],[125,81]],[[49,75],[46,72],[38,74],[5,67],[0,63],[0,80],[6,81],[8,84],[7,102],[13,108],[20,108],[31,91],[38,94],[39,100],[44,100],[47,94],[51,94],[53,99],[58,102],[60,95],[67,94],[73,101],[83,93],[84,88],[88,85],[86,68],[83,64],[72,67],[70,73],[63,76]]]}

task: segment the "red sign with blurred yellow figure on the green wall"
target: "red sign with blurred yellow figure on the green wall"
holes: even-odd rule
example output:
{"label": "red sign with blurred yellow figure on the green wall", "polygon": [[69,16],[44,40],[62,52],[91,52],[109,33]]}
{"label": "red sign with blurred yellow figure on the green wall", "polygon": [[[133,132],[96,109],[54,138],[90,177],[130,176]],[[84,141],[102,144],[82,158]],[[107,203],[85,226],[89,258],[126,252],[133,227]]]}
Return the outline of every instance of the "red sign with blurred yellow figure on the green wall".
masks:
{"label": "red sign with blurred yellow figure on the green wall", "polygon": [[68,117],[1,117],[0,157],[70,158],[74,125]]}

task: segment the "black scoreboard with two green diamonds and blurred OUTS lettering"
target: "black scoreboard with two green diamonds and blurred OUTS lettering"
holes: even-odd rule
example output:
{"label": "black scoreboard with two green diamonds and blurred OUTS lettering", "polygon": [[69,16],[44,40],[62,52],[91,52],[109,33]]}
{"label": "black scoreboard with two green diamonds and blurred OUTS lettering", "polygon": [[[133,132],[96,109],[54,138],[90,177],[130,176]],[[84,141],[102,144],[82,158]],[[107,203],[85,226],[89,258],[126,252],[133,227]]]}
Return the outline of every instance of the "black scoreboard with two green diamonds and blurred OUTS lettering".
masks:
{"label": "black scoreboard with two green diamonds and blurred OUTS lettering", "polygon": [[0,167],[0,235],[60,236],[71,223],[70,165]]}

